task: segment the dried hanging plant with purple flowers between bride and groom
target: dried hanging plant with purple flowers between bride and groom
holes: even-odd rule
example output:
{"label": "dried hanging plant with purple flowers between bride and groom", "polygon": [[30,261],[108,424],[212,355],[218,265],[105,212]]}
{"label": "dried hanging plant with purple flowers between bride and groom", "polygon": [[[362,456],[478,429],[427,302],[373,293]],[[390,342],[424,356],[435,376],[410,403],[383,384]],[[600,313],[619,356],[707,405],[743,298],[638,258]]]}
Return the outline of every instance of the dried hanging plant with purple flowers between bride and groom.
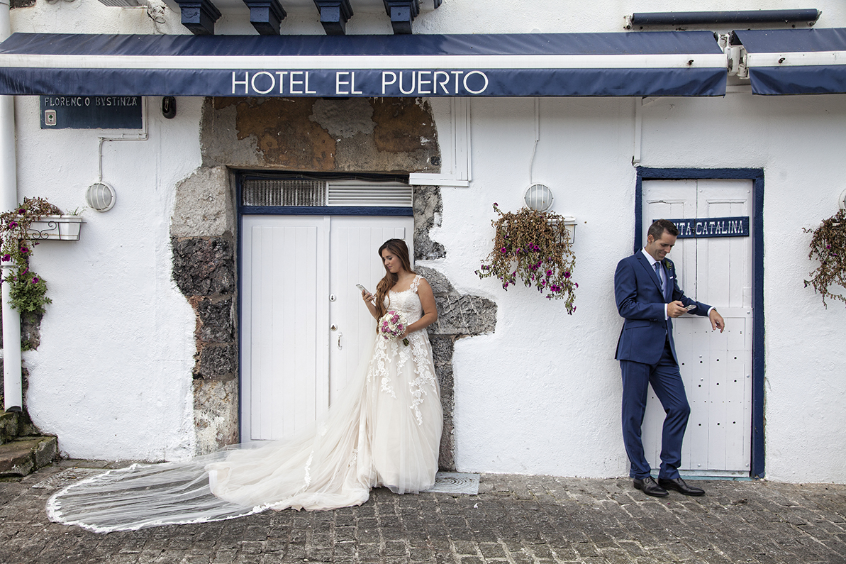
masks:
{"label": "dried hanging plant with purple flowers between bride and groom", "polygon": [[529,208],[504,213],[496,203],[493,210],[499,215],[491,222],[493,250],[475,274],[481,279],[495,276],[506,291],[521,280],[549,300],[565,300],[567,312],[572,314],[579,285],[573,280],[576,257],[563,218]]}

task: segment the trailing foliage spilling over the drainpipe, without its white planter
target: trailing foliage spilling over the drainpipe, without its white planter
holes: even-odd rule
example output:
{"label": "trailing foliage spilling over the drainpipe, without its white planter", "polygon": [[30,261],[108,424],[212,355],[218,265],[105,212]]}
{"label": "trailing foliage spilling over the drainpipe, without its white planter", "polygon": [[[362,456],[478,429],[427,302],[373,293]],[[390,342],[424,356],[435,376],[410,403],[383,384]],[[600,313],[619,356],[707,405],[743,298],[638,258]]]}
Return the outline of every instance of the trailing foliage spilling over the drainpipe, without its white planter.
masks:
{"label": "trailing foliage spilling over the drainpipe, without its white planter", "polygon": [[3,279],[9,285],[9,303],[21,313],[43,313],[52,300],[47,297],[47,283],[30,271],[30,255],[38,241],[31,241],[30,225],[45,215],[61,215],[62,210],[44,198],[24,198],[13,210],[0,214],[0,262],[11,263]]}

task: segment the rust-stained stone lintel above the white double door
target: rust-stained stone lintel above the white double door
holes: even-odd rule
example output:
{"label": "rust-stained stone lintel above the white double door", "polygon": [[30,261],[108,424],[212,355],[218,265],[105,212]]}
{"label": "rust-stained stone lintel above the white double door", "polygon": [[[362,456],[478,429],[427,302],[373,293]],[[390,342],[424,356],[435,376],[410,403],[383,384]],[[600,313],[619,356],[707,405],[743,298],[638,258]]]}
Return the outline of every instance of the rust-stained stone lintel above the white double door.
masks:
{"label": "rust-stained stone lintel above the white double door", "polygon": [[372,114],[362,102],[361,98],[213,98],[203,119],[203,163],[304,172],[439,169],[431,164],[440,152],[428,102],[367,99]]}

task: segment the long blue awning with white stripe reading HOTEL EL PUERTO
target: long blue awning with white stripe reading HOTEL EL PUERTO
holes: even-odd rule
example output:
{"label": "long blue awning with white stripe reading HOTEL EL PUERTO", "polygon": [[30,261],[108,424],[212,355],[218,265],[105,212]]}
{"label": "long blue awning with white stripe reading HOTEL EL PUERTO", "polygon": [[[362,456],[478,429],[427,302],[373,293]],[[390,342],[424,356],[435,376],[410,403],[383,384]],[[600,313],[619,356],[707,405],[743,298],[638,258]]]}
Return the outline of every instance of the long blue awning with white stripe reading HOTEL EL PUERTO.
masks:
{"label": "long blue awning with white stripe reading HOTEL EL PUERTO", "polygon": [[709,31],[415,36],[15,33],[0,94],[723,96]]}

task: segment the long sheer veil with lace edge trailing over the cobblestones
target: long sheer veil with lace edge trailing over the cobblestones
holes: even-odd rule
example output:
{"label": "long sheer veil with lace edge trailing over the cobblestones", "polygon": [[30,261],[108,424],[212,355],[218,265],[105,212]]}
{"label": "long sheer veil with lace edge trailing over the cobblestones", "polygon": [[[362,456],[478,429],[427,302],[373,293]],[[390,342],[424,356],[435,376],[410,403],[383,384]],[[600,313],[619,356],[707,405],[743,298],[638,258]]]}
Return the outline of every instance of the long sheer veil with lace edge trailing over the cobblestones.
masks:
{"label": "long sheer veil with lace edge trailing over the cobblestones", "polygon": [[[370,414],[378,386],[368,385],[375,348],[365,347],[343,398],[292,439],[102,473],[52,495],[48,517],[106,533],[221,521],[268,508],[364,503],[377,485]],[[394,490],[404,493],[402,487]]]}

